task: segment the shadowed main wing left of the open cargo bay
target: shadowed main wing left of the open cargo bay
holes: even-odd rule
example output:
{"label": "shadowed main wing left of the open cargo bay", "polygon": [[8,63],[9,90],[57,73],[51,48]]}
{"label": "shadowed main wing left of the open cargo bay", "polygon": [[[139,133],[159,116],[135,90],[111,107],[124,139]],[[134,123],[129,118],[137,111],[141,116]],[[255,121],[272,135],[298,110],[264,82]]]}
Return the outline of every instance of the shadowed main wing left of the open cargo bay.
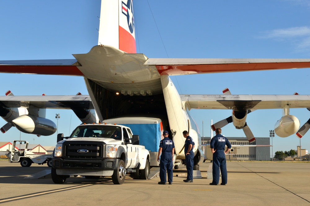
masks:
{"label": "shadowed main wing left of the open cargo bay", "polygon": [[47,109],[94,109],[88,95],[0,96],[0,107],[29,108],[29,105]]}

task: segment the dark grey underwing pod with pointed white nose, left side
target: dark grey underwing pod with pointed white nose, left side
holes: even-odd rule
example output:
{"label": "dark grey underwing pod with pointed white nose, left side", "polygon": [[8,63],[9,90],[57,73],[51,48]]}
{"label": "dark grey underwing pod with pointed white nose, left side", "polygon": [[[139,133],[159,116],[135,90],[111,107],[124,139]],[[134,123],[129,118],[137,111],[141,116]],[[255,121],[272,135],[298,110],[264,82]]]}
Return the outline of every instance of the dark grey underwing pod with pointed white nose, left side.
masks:
{"label": "dark grey underwing pod with pointed white nose, left side", "polygon": [[56,124],[49,119],[33,115],[21,115],[12,121],[24,133],[49,136],[56,132]]}

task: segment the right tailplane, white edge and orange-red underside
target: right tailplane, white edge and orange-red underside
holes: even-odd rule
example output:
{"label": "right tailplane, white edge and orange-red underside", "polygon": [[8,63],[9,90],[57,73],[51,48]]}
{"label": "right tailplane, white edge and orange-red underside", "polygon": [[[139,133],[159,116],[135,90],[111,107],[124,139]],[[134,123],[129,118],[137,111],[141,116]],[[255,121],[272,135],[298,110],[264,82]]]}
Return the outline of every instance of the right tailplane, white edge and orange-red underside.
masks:
{"label": "right tailplane, white edge and orange-red underside", "polygon": [[161,75],[206,74],[273,69],[309,68],[310,59],[152,59]]}

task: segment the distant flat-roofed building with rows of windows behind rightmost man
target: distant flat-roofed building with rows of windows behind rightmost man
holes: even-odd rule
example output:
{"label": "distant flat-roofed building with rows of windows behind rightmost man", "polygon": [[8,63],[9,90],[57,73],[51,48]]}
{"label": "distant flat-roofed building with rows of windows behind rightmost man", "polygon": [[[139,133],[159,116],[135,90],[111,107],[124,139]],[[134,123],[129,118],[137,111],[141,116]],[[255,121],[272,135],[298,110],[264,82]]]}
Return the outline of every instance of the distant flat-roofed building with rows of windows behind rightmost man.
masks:
{"label": "distant flat-roofed building with rows of windows behind rightmost man", "polygon": [[[210,144],[210,137],[201,137],[202,144]],[[270,145],[269,137],[255,137],[256,141],[249,143],[246,137],[227,137],[232,146],[234,145]],[[226,157],[227,160],[271,160],[270,146],[266,147],[236,147]]]}

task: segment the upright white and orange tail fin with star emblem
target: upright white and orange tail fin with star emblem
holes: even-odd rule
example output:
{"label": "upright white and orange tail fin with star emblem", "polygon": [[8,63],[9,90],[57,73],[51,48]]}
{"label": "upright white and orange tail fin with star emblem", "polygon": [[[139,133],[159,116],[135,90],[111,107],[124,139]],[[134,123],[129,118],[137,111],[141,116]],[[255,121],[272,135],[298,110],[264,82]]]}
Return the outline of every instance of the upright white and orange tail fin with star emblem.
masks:
{"label": "upright white and orange tail fin with star emblem", "polygon": [[136,53],[132,0],[101,1],[98,45]]}

